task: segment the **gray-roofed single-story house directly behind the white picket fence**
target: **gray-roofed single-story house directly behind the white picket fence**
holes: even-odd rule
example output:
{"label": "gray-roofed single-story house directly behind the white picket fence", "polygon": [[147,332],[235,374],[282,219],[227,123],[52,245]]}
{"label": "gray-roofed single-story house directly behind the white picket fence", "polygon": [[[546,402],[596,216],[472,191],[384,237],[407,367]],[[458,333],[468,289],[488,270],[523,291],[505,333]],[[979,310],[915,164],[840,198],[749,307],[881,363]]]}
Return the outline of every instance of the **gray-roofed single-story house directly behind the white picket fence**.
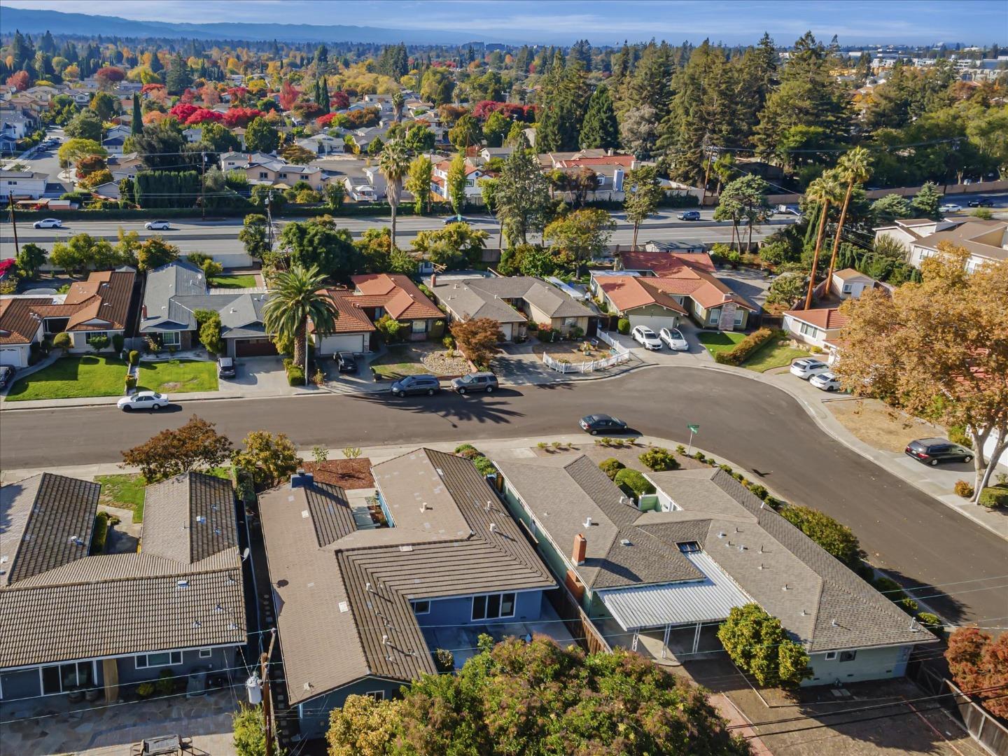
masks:
{"label": "gray-roofed single-story house directly behind the white picket fence", "polygon": [[580,330],[586,336],[593,336],[598,328],[595,312],[533,276],[466,278],[444,283],[433,276],[430,288],[452,320],[491,318],[500,325],[506,342],[523,341],[529,323],[562,334]]}

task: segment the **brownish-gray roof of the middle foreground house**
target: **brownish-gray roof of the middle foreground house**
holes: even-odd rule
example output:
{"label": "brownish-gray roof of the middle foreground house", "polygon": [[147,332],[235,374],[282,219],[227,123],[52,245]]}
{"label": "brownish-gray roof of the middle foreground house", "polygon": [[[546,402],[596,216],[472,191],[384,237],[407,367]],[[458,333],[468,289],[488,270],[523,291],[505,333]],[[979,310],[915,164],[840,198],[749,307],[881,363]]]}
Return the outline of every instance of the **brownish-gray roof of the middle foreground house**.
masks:
{"label": "brownish-gray roof of the middle foreground house", "polygon": [[420,449],[372,472],[395,527],[341,535],[336,487],[260,496],[292,704],[369,674],[433,672],[411,599],[556,585],[468,460]]}

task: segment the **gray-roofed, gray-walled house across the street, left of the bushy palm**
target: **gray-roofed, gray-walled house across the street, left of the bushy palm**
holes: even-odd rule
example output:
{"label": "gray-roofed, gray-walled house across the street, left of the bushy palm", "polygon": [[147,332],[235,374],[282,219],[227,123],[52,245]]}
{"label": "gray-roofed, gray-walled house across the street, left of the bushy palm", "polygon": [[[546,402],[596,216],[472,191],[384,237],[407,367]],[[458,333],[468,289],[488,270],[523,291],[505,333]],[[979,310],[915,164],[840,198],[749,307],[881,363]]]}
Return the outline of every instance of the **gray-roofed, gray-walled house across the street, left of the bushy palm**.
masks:
{"label": "gray-roofed, gray-walled house across the street, left of the bushy palm", "polygon": [[169,262],[147,273],[140,313],[140,335],[162,348],[198,349],[198,309],[221,316],[221,337],[228,357],[276,354],[262,323],[265,291],[211,291],[203,271],[187,261]]}

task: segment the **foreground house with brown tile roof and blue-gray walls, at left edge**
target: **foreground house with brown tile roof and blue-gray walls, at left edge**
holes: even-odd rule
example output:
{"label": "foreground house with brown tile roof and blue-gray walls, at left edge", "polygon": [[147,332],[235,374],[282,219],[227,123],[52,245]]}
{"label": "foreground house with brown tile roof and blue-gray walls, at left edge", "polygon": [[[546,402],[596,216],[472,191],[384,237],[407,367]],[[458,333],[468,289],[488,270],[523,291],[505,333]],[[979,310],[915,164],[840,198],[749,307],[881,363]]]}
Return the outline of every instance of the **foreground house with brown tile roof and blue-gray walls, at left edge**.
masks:
{"label": "foreground house with brown tile roof and blue-gray walls, at left edge", "polygon": [[143,550],[126,553],[96,549],[101,488],[41,473],[0,489],[4,701],[104,692],[111,703],[165,671],[245,668],[231,482],[185,473],[148,486]]}

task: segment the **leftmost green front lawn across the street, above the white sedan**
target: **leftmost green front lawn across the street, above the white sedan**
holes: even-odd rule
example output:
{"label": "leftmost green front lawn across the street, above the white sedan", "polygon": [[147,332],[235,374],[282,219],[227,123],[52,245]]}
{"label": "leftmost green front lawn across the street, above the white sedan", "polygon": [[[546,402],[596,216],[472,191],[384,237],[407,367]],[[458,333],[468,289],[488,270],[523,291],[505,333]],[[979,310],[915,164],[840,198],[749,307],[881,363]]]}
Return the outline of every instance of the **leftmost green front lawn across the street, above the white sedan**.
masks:
{"label": "leftmost green front lawn across the street, above the white sedan", "polygon": [[117,396],[125,389],[125,378],[126,363],[118,358],[69,355],[16,381],[7,401]]}

